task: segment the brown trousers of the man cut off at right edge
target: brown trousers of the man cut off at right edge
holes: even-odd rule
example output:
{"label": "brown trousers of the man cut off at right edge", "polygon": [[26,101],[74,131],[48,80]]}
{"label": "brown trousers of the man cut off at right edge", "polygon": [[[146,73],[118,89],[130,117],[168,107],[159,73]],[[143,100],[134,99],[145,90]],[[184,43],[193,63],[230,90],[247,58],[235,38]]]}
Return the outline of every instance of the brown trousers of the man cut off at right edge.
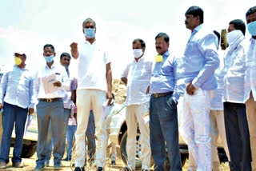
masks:
{"label": "brown trousers of the man cut off at right edge", "polygon": [[250,98],[246,101],[246,114],[250,132],[251,168],[256,171],[256,101],[250,91]]}

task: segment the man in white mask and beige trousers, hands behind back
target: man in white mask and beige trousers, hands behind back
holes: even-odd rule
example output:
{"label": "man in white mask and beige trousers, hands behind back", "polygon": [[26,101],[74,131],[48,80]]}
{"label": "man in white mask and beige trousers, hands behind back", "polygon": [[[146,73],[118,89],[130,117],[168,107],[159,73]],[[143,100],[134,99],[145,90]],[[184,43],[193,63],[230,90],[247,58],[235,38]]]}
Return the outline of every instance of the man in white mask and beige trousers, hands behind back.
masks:
{"label": "man in white mask and beige trousers, hands behind back", "polygon": [[149,96],[146,90],[150,85],[153,62],[145,57],[146,45],[142,39],[133,42],[134,57],[122,73],[122,82],[127,85],[126,97],[126,152],[128,166],[122,170],[135,170],[137,126],[142,137],[142,170],[150,170],[150,128],[143,116],[148,113]]}

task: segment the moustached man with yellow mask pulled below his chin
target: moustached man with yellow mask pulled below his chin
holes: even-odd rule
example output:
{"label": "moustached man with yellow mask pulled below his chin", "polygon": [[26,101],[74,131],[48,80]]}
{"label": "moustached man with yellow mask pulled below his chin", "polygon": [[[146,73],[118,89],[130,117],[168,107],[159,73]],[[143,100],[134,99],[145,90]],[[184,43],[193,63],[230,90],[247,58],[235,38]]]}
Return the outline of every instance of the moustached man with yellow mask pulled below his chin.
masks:
{"label": "moustached man with yellow mask pulled below his chin", "polygon": [[169,52],[169,36],[159,33],[155,37],[158,56],[150,80],[150,147],[154,170],[162,171],[168,150],[170,170],[182,170],[178,145],[177,60]]}

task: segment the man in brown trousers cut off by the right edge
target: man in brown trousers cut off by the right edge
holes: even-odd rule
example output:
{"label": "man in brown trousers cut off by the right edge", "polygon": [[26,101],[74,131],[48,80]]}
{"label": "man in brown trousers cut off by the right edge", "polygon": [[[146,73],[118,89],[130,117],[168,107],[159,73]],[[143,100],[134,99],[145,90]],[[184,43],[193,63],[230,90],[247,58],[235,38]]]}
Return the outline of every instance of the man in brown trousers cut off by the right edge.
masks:
{"label": "man in brown trousers cut off by the right edge", "polygon": [[251,38],[246,55],[244,100],[246,102],[246,114],[250,130],[251,167],[253,171],[256,171],[256,6],[247,11],[246,22]]}

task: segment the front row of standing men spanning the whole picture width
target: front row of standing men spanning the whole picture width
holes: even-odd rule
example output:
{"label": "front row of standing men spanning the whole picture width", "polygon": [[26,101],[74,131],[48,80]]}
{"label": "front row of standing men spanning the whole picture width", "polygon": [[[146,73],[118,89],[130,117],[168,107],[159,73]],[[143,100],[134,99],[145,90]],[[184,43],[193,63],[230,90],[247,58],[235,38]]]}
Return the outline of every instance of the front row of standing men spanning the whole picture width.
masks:
{"label": "front row of standing men spanning the whole picture width", "polygon": [[[177,113],[180,96],[183,96],[180,133],[190,152],[189,170],[218,170],[218,167],[213,167],[213,159],[216,157],[212,153],[214,150],[211,149],[211,137],[213,137],[211,133],[214,123],[217,123],[218,127],[223,127],[224,121],[226,136],[221,137],[224,146],[227,142],[226,152],[230,154],[230,169],[256,170],[256,127],[254,126],[256,6],[246,13],[247,27],[252,35],[249,50],[246,50],[244,38],[246,25],[242,20],[234,20],[229,23],[226,37],[230,46],[224,58],[218,55],[218,37],[213,30],[206,30],[203,26],[203,10],[198,6],[191,6],[185,16],[186,28],[191,30],[191,35],[182,58],[175,58],[170,54],[169,36],[165,33],[155,37],[158,56],[155,57],[154,64],[144,55],[146,44],[142,39],[135,39],[132,44],[134,58],[126,66],[121,78],[127,85],[126,124],[127,148],[129,148],[128,165],[122,170],[135,169],[137,125],[142,134],[142,170],[150,170],[151,154],[155,161],[154,170],[164,170],[166,149],[170,170],[182,170]],[[82,48],[78,50],[76,42],[70,45],[72,57],[78,60],[75,171],[84,170],[85,134],[90,109],[94,111],[95,135],[98,140],[95,162],[97,170],[101,171],[106,164],[107,145],[102,104],[107,101],[110,105],[113,98],[112,71],[106,51],[96,42],[94,20],[87,18],[82,23],[82,28],[86,36]],[[3,108],[0,153],[2,168],[9,162],[10,136],[14,122],[16,143],[12,161],[14,167],[22,166],[20,155],[26,115],[27,112],[29,114],[34,112],[34,104],[37,104],[38,113],[38,160],[34,170],[42,170],[45,167],[44,149],[50,122],[54,145],[54,168],[62,167],[66,133],[63,130],[66,129],[65,123],[68,118],[65,117],[65,113],[69,116],[71,110],[64,109],[65,105],[63,105],[66,90],[70,89],[69,72],[58,65],[58,62],[54,62],[54,46],[50,44],[44,46],[43,56],[46,64],[38,70],[34,79],[26,69],[26,54],[18,53],[15,53],[16,65],[13,70],[2,78],[0,89],[2,99],[0,108]],[[224,65],[219,66],[222,60]],[[49,76],[54,78],[55,89],[46,92],[44,84]],[[148,93],[150,96],[147,95]],[[221,104],[219,108],[214,108],[212,104],[222,103],[216,101],[219,97],[222,97],[224,107]],[[143,121],[143,117],[146,117],[149,108],[150,125],[148,126]],[[223,109],[225,119],[222,117],[222,112],[218,112]],[[216,120],[218,117],[219,119]],[[222,132],[223,129],[220,131],[223,135]]]}

